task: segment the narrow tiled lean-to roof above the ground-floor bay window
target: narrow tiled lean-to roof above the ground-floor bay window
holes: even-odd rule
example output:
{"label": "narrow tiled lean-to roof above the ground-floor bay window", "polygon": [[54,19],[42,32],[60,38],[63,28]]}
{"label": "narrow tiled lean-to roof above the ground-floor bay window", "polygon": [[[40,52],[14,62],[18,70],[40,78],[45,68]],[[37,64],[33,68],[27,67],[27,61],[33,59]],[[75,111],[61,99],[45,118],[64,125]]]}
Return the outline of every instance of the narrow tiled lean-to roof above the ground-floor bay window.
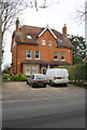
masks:
{"label": "narrow tiled lean-to roof above the ground-floor bay window", "polygon": [[21,64],[41,64],[41,65],[70,65],[62,61],[49,61],[49,60],[26,60]]}

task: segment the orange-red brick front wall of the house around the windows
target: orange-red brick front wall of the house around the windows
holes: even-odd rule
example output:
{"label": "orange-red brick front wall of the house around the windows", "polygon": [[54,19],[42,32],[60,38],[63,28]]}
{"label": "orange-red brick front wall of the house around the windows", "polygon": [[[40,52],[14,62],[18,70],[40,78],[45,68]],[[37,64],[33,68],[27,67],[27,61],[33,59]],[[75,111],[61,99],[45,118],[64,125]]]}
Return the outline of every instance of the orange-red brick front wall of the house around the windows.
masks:
{"label": "orange-red brick front wall of the house around the windows", "polygon": [[[45,46],[42,44],[42,39],[45,39]],[[26,50],[32,50],[32,60],[34,60],[34,51],[40,51],[40,60],[52,60],[54,61],[54,52],[58,52],[58,61],[61,61],[61,52],[66,52],[66,62],[72,64],[72,50],[68,48],[56,48],[56,39],[53,35],[46,30],[39,39],[39,46],[33,44],[17,44],[12,50],[13,52],[13,72],[21,73],[20,63],[26,60]],[[48,46],[48,40],[52,40],[52,46]],[[16,58],[17,55],[17,58]],[[17,64],[17,66],[16,66]],[[40,73],[40,66],[38,66]],[[23,73],[25,72],[25,65],[23,66]]]}

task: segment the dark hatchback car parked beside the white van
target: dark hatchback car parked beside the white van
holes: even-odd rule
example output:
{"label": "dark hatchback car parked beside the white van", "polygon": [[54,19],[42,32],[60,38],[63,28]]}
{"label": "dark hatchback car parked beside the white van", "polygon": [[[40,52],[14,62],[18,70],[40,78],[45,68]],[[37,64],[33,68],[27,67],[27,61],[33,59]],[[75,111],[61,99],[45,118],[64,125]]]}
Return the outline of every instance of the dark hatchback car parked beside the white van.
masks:
{"label": "dark hatchback car parked beside the white van", "polygon": [[29,83],[31,87],[46,87],[47,80],[43,74],[32,74],[28,78],[27,83]]}

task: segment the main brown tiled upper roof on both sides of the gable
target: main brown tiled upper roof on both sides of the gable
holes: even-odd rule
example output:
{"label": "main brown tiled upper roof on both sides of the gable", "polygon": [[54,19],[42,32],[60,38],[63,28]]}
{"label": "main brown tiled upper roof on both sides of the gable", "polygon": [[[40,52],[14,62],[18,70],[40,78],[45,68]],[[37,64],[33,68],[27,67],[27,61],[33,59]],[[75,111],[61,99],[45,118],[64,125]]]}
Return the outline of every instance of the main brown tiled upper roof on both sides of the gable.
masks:
{"label": "main brown tiled upper roof on both sides of the gable", "polygon": [[[15,41],[17,43],[27,43],[27,44],[38,44],[38,37],[45,28],[34,27],[34,26],[21,26],[19,31],[15,30]],[[57,37],[56,42],[57,47],[73,48],[72,43],[68,38],[64,38],[62,34],[55,29],[50,29],[53,34]],[[27,36],[31,36],[31,39],[28,39]],[[60,42],[60,40],[62,42]]]}

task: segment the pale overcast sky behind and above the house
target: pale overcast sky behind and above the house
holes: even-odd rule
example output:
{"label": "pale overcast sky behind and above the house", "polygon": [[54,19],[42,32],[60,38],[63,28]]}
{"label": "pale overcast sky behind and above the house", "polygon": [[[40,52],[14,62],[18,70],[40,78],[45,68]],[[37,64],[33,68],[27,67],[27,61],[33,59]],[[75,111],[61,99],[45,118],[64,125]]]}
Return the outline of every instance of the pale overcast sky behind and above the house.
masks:
{"label": "pale overcast sky behind and above the house", "polygon": [[[50,0],[47,0],[50,1]],[[85,24],[84,22],[81,24],[81,21],[76,18],[77,10],[84,11],[85,9],[85,0],[53,0],[52,5],[46,9],[27,9],[24,14],[19,17],[20,26],[29,25],[29,26],[39,26],[46,27],[47,24],[49,28],[54,28],[59,32],[62,32],[62,27],[67,24],[67,32],[69,35],[78,35],[85,37]],[[16,21],[16,20],[15,20]],[[15,29],[15,25],[13,26]],[[4,64],[11,63],[11,35],[13,31],[9,32],[10,36],[8,38],[8,42],[5,42],[5,53],[4,53]]]}

